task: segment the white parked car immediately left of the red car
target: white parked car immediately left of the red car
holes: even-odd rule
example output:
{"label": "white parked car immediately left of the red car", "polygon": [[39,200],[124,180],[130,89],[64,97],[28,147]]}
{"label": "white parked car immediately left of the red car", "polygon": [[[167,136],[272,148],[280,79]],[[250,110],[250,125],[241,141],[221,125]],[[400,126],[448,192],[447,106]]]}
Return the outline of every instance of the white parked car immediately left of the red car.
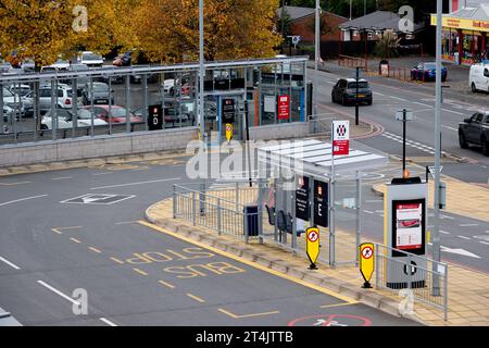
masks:
{"label": "white parked car immediately left of the red car", "polygon": [[[90,127],[91,126],[91,112],[85,109],[77,109],[76,113],[76,126],[77,127]],[[74,113],[72,109],[57,109],[54,120],[58,120],[57,129],[72,128],[74,121]],[[52,129],[53,124],[53,111],[50,109],[42,116],[41,129]],[[93,115],[93,126],[106,125],[106,122]]]}

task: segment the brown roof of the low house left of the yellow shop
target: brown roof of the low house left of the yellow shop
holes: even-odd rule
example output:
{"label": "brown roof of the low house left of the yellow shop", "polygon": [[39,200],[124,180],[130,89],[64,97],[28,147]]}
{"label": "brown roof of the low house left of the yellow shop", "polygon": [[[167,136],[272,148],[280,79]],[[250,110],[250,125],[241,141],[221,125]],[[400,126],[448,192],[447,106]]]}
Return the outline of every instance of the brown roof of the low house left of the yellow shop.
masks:
{"label": "brown roof of the low house left of the yellow shop", "polygon": [[[392,29],[399,30],[399,21],[401,17],[399,14],[388,11],[375,11],[364,15],[362,17],[348,21],[339,25],[341,29]],[[424,28],[423,23],[414,24],[414,32]]]}

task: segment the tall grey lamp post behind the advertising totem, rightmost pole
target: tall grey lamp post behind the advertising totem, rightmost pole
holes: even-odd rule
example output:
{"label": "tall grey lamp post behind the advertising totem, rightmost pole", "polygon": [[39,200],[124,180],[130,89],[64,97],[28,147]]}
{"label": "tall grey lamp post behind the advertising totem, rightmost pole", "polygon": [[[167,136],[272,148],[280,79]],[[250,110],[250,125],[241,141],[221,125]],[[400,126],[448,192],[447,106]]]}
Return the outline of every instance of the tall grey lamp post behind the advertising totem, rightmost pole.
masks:
{"label": "tall grey lamp post behind the advertising totem, rightmost pole", "polygon": [[[432,259],[440,261],[440,154],[441,154],[441,11],[442,0],[437,0],[436,86],[435,86],[435,216],[432,225]],[[434,262],[434,269],[436,268]],[[438,270],[434,270],[438,272]],[[432,295],[440,294],[440,279],[434,277]]]}

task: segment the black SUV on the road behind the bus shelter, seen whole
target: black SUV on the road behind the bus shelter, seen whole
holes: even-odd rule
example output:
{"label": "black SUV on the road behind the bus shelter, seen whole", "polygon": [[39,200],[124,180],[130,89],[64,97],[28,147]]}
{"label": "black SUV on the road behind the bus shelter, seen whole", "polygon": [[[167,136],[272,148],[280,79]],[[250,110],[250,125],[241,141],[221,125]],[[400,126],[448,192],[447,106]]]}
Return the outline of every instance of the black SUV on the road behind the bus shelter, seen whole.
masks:
{"label": "black SUV on the road behind the bus shelter, seen whole", "polygon": [[352,102],[356,102],[356,98],[360,103],[366,103],[372,105],[373,97],[372,89],[368,82],[364,78],[359,79],[359,96],[356,96],[356,79],[355,78],[340,78],[336,83],[331,90],[331,101],[340,102],[343,105],[348,105]]}

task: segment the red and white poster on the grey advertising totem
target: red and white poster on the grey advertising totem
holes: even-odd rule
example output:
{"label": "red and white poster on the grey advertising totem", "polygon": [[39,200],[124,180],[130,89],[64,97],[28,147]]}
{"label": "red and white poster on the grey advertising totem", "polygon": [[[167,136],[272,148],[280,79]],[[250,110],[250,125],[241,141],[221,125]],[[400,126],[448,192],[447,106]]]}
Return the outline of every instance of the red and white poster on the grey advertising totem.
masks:
{"label": "red and white poster on the grey advertising totem", "polygon": [[396,207],[396,244],[397,248],[422,248],[423,204],[397,204]]}

